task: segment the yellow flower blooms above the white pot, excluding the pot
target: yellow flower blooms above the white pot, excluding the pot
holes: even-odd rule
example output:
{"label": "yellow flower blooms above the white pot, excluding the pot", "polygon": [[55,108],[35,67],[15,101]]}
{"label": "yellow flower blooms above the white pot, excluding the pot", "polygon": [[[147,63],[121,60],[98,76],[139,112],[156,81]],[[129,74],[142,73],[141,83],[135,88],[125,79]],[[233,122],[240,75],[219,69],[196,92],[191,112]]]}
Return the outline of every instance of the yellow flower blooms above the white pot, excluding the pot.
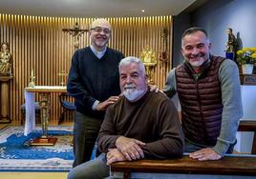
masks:
{"label": "yellow flower blooms above the white pot, excluding the pot", "polygon": [[237,61],[243,64],[256,64],[256,48],[244,48],[237,51]]}

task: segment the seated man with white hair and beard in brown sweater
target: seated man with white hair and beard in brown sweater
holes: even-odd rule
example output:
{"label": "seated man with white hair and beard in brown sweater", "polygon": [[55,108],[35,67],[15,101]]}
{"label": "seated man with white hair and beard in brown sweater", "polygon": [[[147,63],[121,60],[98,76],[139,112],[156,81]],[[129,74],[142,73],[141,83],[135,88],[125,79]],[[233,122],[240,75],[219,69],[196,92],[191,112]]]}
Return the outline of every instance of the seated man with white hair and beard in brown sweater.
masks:
{"label": "seated man with white hair and beard in brown sweater", "polygon": [[97,146],[103,153],[71,170],[69,179],[107,177],[109,165],[117,161],[182,156],[178,111],[164,94],[148,89],[139,58],[122,59],[119,75],[123,96],[107,109],[98,134]]}

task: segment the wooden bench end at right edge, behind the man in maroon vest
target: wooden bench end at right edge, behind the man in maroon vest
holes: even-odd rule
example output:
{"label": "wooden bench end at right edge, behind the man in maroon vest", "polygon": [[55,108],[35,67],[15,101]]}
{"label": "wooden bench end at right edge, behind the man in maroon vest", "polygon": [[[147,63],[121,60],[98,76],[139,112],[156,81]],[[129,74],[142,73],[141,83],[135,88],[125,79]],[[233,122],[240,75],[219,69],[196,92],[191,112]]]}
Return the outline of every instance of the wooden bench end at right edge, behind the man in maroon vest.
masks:
{"label": "wooden bench end at right edge, behind the man in maroon vest", "polygon": [[254,137],[252,140],[251,154],[256,154],[256,120],[255,121],[241,120],[240,124],[239,124],[238,131],[253,131],[254,132]]}

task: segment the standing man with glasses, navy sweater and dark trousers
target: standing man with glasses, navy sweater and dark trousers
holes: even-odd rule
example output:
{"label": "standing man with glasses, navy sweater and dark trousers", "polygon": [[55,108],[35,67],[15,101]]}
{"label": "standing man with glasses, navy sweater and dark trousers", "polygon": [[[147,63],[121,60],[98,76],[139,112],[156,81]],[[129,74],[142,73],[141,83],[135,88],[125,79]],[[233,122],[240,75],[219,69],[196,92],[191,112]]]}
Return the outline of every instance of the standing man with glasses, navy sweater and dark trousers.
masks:
{"label": "standing man with glasses, navy sweater and dark trousers", "polygon": [[96,19],[89,34],[91,46],[75,51],[67,86],[76,107],[74,167],[91,159],[105,109],[120,94],[118,63],[123,54],[107,48],[111,25],[105,19]]}

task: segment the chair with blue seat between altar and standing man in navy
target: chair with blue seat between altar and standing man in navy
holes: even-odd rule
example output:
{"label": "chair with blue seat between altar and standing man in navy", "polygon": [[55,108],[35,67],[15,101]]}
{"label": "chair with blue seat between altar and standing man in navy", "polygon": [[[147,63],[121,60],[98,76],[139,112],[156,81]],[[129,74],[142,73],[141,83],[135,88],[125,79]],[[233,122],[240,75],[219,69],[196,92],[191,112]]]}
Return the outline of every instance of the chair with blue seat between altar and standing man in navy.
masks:
{"label": "chair with blue seat between altar and standing man in navy", "polygon": [[75,103],[69,101],[69,94],[67,93],[61,93],[58,98],[61,107],[63,108],[63,111],[61,112],[59,119],[58,119],[58,125],[60,125],[64,121],[64,116],[67,111],[75,111]]}

